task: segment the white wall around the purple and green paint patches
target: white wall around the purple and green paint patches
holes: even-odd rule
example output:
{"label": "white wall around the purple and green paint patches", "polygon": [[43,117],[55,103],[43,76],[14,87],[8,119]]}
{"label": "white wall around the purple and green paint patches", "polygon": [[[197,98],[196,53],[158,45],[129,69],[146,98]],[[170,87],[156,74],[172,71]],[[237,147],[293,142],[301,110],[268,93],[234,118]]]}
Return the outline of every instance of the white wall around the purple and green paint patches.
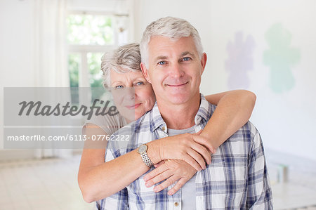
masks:
{"label": "white wall around the purple and green paint patches", "polygon": [[[145,27],[167,15],[185,18],[199,31],[208,54],[202,93],[230,89],[228,43],[236,32],[254,39],[253,70],[249,86],[258,96],[251,121],[256,124],[266,148],[316,160],[316,1],[135,1],[135,35],[140,41]],[[265,33],[280,22],[291,34],[290,48],[300,58],[290,67],[295,84],[289,91],[275,93],[269,86],[270,67],[263,64],[269,49]],[[244,38],[245,39],[245,38]],[[236,63],[238,64],[238,62]]]}

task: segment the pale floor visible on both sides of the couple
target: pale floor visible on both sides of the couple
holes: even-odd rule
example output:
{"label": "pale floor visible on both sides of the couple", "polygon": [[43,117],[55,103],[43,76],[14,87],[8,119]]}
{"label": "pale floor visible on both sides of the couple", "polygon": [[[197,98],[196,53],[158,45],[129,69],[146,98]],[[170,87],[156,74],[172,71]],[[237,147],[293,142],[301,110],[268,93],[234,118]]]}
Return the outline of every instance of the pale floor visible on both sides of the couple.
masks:
{"label": "pale floor visible on both sides of the couple", "polygon": [[[0,162],[0,209],[93,209],[81,197],[77,184],[80,156]],[[316,176],[290,171],[282,183],[282,166],[270,164],[275,209],[316,210]],[[281,174],[284,175],[284,174]]]}

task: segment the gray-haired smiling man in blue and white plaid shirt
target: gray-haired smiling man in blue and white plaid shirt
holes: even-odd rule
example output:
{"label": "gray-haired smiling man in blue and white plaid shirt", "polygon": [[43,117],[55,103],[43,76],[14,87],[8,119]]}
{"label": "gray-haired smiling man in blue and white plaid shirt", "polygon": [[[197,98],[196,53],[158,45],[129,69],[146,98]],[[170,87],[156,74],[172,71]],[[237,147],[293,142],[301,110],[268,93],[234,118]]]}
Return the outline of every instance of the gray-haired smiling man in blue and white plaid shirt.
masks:
{"label": "gray-haired smiling man in blue and white plaid shirt", "polygon": [[[129,142],[109,142],[110,161],[139,147],[144,164],[152,166],[150,141],[204,128],[215,106],[199,93],[206,54],[197,30],[179,18],[161,18],[147,26],[140,42],[141,68],[152,84],[157,103],[150,112],[115,135]],[[146,144],[148,143],[148,144]],[[177,150],[177,147],[172,148]],[[174,195],[153,192],[143,176],[99,202],[99,209],[272,209],[272,195],[263,145],[248,122],[212,155],[212,163],[197,171]]]}

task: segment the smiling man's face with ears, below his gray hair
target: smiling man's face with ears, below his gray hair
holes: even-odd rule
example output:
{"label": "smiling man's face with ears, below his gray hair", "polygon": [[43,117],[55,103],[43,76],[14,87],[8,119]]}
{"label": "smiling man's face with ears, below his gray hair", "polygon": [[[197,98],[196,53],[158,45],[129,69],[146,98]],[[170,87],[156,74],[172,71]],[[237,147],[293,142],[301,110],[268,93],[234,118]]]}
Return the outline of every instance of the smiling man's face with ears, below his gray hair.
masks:
{"label": "smiling man's face with ears, below his gray hair", "polygon": [[178,105],[199,96],[206,54],[199,58],[192,37],[172,41],[168,37],[155,36],[150,39],[148,48],[148,69],[143,63],[141,66],[157,101]]}

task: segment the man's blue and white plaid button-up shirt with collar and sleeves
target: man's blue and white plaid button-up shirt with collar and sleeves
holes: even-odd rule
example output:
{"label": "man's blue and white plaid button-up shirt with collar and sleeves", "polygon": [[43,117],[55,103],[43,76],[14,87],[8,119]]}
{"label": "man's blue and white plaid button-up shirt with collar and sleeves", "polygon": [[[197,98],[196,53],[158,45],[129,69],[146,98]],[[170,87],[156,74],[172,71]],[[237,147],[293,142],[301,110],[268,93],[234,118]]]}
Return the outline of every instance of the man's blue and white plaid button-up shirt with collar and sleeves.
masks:
{"label": "man's blue and white plaid button-up shirt with collar and sleeves", "polygon": [[[204,129],[215,107],[201,95],[200,107],[195,116],[196,132]],[[143,143],[168,136],[168,129],[156,103],[150,112],[119,129],[114,135],[128,135],[129,141],[109,141],[106,162],[135,150]],[[212,155],[211,164],[197,171],[196,175],[192,195],[195,195],[197,209],[272,209],[263,143],[251,122],[247,122],[220,145]],[[181,209],[181,190],[169,196],[167,192],[173,187],[171,185],[161,192],[153,192],[154,186],[147,188],[143,176],[114,195],[96,202],[96,208]]]}

